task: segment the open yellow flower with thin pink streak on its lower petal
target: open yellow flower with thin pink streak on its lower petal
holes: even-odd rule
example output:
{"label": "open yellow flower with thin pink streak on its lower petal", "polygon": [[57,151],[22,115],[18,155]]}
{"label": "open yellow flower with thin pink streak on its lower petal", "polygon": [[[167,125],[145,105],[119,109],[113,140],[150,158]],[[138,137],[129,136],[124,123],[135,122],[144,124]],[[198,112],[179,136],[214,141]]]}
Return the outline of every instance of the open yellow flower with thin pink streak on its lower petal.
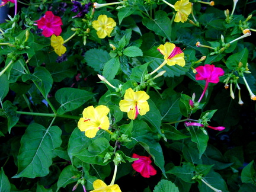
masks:
{"label": "open yellow flower with thin pink streak on its lower petal", "polygon": [[145,115],[149,111],[149,95],[145,91],[133,91],[132,88],[126,90],[124,100],[119,103],[120,110],[127,112],[129,119],[136,119],[137,115]]}

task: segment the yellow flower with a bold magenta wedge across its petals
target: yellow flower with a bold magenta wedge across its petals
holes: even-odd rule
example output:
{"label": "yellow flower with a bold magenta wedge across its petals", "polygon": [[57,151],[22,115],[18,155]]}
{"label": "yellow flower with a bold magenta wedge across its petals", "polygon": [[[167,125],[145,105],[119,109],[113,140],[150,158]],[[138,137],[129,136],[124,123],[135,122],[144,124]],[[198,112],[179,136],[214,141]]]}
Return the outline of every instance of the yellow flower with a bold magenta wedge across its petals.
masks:
{"label": "yellow flower with a bold magenta wedge across its petals", "polygon": [[167,62],[167,65],[180,65],[185,66],[185,59],[184,59],[184,53],[180,49],[180,47],[176,47],[173,43],[165,43],[164,45],[161,44],[158,47],[159,52],[164,55],[164,59]]}

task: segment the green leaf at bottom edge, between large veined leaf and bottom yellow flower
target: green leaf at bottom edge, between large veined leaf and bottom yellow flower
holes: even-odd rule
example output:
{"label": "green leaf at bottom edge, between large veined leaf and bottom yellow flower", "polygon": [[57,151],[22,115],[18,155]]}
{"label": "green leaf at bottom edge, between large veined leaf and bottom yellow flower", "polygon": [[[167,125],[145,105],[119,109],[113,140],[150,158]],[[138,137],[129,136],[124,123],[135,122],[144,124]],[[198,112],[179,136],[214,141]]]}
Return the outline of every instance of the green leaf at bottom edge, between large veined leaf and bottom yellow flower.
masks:
{"label": "green leaf at bottom edge, between large veined leaf and bottom yellow flower", "polygon": [[75,183],[80,177],[81,172],[73,167],[73,165],[68,165],[68,167],[65,167],[59,175],[57,191],[59,191],[60,187],[66,187],[68,184]]}

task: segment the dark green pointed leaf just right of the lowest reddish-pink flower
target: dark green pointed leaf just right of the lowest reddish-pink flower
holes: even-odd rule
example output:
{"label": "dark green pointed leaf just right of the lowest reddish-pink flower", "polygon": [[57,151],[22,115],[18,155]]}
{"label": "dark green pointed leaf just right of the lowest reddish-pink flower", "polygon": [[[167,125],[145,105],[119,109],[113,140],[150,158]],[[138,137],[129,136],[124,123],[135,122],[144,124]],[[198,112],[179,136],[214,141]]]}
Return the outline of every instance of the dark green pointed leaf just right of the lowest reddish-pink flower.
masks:
{"label": "dark green pointed leaf just right of the lowest reddish-pink flower", "polygon": [[196,168],[190,162],[183,162],[181,166],[175,166],[167,171],[167,174],[174,174],[177,177],[181,178],[183,181],[187,183],[196,183],[196,180],[193,180]]}

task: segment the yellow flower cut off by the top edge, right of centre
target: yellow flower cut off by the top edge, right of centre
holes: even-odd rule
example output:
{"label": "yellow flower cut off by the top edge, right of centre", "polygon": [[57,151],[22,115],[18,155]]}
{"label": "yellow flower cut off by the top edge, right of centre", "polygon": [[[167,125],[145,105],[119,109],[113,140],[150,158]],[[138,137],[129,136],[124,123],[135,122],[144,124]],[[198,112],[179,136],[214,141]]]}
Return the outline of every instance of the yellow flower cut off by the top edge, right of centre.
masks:
{"label": "yellow flower cut off by the top edge, right of centre", "polygon": [[187,21],[188,15],[191,13],[192,4],[188,0],[177,1],[174,4],[174,9],[177,11],[175,15],[175,22],[184,23]]}

